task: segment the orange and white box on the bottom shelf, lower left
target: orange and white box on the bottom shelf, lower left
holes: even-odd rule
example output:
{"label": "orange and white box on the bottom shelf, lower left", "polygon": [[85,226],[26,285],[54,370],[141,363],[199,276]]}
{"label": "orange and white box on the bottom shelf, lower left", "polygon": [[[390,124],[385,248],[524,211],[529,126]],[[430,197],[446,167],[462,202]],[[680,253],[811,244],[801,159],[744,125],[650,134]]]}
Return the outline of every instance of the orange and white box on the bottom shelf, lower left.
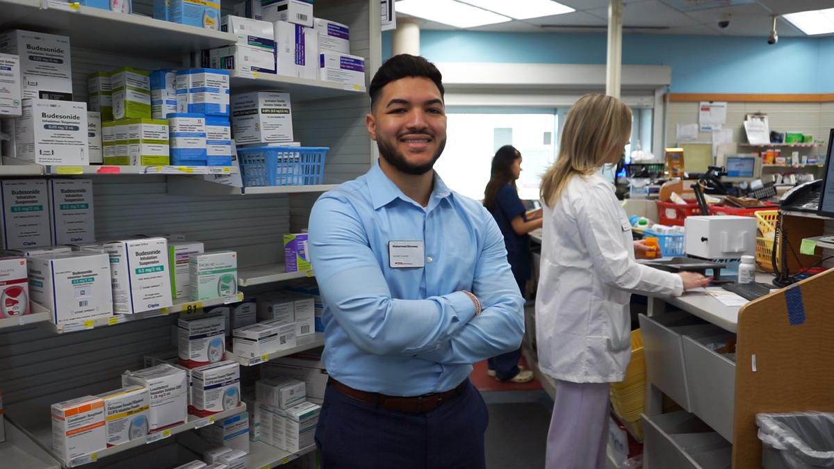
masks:
{"label": "orange and white box on the bottom shelf, lower left", "polygon": [[64,461],[107,447],[104,401],[83,396],[52,405],[53,451]]}

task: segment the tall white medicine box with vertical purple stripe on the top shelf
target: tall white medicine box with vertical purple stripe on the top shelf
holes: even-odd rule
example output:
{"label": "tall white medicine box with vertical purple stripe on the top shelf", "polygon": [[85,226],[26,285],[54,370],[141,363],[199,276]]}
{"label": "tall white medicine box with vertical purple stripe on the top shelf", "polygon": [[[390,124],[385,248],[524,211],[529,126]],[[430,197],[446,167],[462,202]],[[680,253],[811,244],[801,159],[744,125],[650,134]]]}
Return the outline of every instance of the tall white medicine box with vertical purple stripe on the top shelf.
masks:
{"label": "tall white medicine box with vertical purple stripe on the top shelf", "polygon": [[319,79],[319,33],[284,21],[275,22],[275,73]]}

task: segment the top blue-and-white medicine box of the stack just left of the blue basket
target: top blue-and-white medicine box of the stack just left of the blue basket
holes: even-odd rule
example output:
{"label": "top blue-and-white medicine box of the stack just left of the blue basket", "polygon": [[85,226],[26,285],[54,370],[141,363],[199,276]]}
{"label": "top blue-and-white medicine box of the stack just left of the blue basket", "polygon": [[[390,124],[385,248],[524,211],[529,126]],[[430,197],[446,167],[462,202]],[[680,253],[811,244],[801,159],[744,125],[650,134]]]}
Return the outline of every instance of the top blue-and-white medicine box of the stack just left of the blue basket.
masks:
{"label": "top blue-and-white medicine box of the stack just left of the blue basket", "polygon": [[177,72],[177,112],[229,116],[229,70],[189,68]]}

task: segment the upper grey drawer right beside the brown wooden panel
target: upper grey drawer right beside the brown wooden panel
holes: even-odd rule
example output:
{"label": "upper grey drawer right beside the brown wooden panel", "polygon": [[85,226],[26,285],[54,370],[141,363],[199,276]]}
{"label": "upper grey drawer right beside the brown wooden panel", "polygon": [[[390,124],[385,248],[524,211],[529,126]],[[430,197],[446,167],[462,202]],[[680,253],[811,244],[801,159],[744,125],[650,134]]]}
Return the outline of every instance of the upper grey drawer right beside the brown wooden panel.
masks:
{"label": "upper grey drawer right beside the brown wooden panel", "polygon": [[724,343],[735,336],[726,332],[683,338],[690,411],[730,442],[736,399],[736,362],[732,360],[735,354],[720,354],[706,344]]}

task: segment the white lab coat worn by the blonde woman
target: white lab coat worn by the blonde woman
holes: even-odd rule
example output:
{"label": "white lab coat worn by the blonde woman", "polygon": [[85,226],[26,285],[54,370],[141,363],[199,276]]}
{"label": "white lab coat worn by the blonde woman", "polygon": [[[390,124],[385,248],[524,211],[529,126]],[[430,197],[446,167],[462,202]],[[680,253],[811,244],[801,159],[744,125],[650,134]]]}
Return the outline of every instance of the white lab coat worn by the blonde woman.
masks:
{"label": "white lab coat worn by the blonde woman", "polygon": [[539,366],[558,380],[622,381],[631,357],[631,292],[681,295],[680,275],[637,264],[614,186],[575,176],[544,204],[535,300]]}

